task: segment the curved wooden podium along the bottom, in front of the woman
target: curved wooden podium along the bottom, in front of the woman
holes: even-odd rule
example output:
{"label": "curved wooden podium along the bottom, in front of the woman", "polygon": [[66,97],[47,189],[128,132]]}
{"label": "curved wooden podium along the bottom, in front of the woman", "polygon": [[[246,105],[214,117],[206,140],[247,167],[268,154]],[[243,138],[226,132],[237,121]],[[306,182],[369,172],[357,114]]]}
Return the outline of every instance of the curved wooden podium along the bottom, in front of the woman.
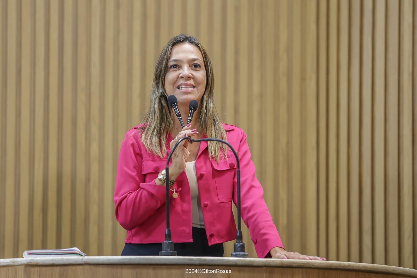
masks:
{"label": "curved wooden podium along the bottom, in front of the woman", "polygon": [[0,277],[417,277],[417,270],[388,265],[255,258],[98,256],[0,260]]}

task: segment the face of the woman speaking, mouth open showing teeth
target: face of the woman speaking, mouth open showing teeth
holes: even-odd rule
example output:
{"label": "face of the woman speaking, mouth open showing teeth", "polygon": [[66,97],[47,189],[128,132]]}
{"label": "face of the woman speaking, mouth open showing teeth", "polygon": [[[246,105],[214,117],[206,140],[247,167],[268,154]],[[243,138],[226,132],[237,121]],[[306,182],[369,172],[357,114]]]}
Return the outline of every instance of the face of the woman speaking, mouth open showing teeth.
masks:
{"label": "face of the woman speaking, mouth open showing teeth", "polygon": [[174,45],[165,74],[165,90],[175,95],[178,105],[187,105],[191,100],[200,102],[206,89],[206,69],[200,50],[192,44]]}

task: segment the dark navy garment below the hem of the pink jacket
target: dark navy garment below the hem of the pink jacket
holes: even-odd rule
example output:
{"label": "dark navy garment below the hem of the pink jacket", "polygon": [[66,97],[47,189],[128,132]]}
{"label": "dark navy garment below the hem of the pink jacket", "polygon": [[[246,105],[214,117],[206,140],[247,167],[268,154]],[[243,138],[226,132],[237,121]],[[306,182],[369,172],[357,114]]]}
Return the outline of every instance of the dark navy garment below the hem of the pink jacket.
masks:
{"label": "dark navy garment below the hem of the pink jacket", "polygon": [[[158,256],[162,243],[125,243],[122,256]],[[223,243],[208,246],[206,229],[193,227],[193,242],[174,243],[178,256],[223,257]]]}

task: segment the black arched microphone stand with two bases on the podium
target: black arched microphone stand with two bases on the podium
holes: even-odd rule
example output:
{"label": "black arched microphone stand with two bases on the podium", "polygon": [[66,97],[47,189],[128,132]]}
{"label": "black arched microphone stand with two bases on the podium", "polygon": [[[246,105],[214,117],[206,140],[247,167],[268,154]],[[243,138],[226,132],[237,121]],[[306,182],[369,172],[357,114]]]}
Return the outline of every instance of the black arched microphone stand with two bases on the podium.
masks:
{"label": "black arched microphone stand with two bases on the podium", "polygon": [[162,243],[162,251],[159,252],[161,256],[176,256],[177,252],[174,251],[174,242],[171,240],[171,230],[169,228],[169,160],[171,159],[173,151],[177,148],[178,144],[183,140],[191,140],[193,142],[203,142],[203,141],[217,141],[224,143],[229,146],[236,158],[236,167],[237,167],[237,234],[236,234],[236,243],[234,244],[234,252],[231,253],[232,257],[247,258],[248,253],[245,253],[245,243],[243,243],[243,235],[241,230],[241,220],[240,220],[240,163],[234,148],[225,140],[216,139],[216,138],[203,138],[203,139],[192,139],[191,137],[183,137],[174,145],[171,150],[171,153],[168,155],[166,160],[165,167],[165,185],[166,185],[166,232],[165,232],[165,241]]}

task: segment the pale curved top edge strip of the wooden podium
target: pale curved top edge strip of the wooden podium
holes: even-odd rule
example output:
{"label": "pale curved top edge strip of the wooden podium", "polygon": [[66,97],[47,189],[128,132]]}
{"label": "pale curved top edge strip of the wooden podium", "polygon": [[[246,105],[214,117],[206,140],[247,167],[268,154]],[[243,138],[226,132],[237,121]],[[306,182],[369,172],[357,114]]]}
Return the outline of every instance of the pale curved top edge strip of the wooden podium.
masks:
{"label": "pale curved top edge strip of the wooden podium", "polygon": [[282,260],[259,258],[219,258],[184,256],[86,256],[71,258],[0,259],[0,267],[17,265],[188,265],[244,266],[269,268],[314,268],[349,270],[367,273],[395,274],[417,277],[417,270],[390,265],[317,260]]}

